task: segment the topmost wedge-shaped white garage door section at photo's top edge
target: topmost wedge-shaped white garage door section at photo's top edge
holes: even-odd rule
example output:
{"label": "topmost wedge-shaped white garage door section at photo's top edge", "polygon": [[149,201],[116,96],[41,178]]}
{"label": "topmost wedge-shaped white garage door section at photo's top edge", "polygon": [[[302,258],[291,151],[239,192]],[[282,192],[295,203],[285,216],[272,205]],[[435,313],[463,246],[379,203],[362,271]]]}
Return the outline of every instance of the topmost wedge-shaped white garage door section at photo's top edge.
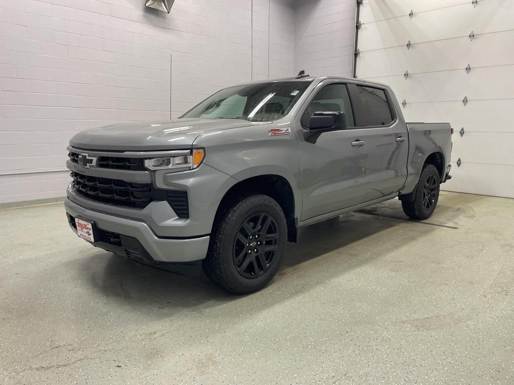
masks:
{"label": "topmost wedge-shaped white garage door section at photo's top edge", "polygon": [[[483,1],[483,0],[480,0]],[[437,8],[462,5],[470,2],[464,0],[405,0],[403,2],[387,2],[384,0],[364,0],[360,6],[360,20],[383,20],[385,18],[408,15],[414,12],[428,11]]]}

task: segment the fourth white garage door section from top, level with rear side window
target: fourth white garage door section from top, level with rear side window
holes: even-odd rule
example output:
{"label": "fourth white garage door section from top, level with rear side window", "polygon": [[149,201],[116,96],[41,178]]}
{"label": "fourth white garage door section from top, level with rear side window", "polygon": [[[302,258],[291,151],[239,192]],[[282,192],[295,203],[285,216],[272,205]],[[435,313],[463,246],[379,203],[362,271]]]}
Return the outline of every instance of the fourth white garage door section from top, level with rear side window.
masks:
{"label": "fourth white garage door section from top, level with rear side window", "polygon": [[389,84],[398,99],[407,102],[459,101],[465,96],[469,100],[508,99],[512,98],[514,89],[513,73],[514,65],[476,68],[473,74],[434,72],[412,75],[408,79],[391,76],[373,80]]}

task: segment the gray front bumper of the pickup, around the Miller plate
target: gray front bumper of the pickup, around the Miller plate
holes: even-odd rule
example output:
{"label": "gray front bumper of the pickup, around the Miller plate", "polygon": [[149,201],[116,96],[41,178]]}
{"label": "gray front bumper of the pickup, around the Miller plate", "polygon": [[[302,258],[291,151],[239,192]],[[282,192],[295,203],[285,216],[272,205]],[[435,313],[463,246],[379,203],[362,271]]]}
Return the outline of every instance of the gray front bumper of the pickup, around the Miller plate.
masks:
{"label": "gray front bumper of the pickup, around the Miller plate", "polygon": [[[100,213],[79,206],[66,199],[64,202],[71,228],[73,218],[94,222],[104,233],[114,237],[103,237],[94,245],[124,255],[129,258],[150,263],[187,263],[204,259],[209,247],[209,236],[199,237],[161,237],[142,221]],[[105,240],[111,240],[110,242]]]}

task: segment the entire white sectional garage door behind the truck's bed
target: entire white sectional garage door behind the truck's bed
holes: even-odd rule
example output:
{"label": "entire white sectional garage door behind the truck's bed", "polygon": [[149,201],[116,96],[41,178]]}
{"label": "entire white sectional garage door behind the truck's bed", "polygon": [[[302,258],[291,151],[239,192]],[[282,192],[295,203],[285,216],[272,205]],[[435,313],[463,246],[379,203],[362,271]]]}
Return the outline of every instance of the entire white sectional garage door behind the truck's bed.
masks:
{"label": "entire white sectional garage door behind the truck's bed", "polygon": [[514,198],[514,1],[363,0],[359,21],[357,77],[455,129],[443,187]]}

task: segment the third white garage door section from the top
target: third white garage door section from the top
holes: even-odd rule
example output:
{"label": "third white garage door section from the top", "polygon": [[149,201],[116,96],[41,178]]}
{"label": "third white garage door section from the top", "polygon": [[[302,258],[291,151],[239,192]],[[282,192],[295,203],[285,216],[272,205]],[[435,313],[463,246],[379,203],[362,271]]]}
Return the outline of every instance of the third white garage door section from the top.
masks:
{"label": "third white garage door section from the top", "polygon": [[406,70],[411,74],[464,71],[468,64],[471,65],[471,74],[474,74],[478,67],[514,64],[514,49],[506,47],[514,47],[514,31],[476,36],[473,42],[463,37],[414,45],[410,50],[395,47],[362,52],[357,59],[357,76],[368,79],[371,76],[402,75]]}

